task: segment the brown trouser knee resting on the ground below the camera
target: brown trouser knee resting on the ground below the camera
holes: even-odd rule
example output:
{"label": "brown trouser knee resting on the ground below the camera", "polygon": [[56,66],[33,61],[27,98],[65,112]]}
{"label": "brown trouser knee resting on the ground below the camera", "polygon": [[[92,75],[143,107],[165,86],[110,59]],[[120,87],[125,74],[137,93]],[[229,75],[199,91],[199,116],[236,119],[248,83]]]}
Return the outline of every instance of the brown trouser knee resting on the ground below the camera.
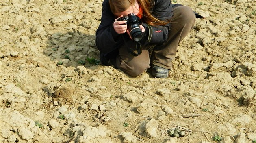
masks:
{"label": "brown trouser knee resting on the ground below the camera", "polygon": [[116,58],[117,68],[124,71],[126,74],[136,77],[150,68],[149,52],[142,49],[142,53],[138,56],[133,56],[128,53],[126,46],[134,46],[134,41],[130,40],[126,45],[119,48],[119,55]]}

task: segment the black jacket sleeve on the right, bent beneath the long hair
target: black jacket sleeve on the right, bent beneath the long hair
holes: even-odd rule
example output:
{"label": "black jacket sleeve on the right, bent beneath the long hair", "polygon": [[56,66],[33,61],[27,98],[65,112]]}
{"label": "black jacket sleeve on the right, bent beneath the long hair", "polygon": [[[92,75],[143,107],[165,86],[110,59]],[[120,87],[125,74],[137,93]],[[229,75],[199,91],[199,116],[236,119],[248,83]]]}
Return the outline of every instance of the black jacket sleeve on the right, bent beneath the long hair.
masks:
{"label": "black jacket sleeve on the right, bent beneath the long hair", "polygon": [[[155,6],[152,9],[152,15],[161,21],[171,21],[173,10],[172,4],[170,0],[154,0]],[[145,24],[143,25],[145,27]],[[146,26],[147,29],[152,30],[152,32],[148,32],[146,35],[147,42],[150,44],[162,44],[168,38],[169,29],[171,27],[171,22],[167,23],[164,26]]]}

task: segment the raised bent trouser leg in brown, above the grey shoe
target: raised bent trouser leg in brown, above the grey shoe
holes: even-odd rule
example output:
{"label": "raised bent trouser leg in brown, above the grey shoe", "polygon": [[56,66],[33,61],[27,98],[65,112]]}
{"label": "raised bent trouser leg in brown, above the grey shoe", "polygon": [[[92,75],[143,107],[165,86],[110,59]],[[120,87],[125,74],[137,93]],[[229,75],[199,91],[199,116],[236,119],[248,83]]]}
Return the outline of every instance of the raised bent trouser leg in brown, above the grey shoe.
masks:
{"label": "raised bent trouser leg in brown, above the grey shoe", "polygon": [[171,69],[171,61],[175,59],[178,44],[195,25],[195,13],[190,7],[178,6],[173,12],[167,41],[161,46],[155,46],[151,56],[152,64],[166,69]]}

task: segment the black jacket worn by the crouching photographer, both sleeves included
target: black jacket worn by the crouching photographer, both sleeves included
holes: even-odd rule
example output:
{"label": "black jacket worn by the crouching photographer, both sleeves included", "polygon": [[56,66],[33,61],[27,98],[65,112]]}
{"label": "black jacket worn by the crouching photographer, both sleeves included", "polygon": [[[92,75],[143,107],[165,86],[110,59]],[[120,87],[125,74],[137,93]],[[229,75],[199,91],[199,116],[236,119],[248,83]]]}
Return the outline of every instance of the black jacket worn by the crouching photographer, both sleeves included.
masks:
{"label": "black jacket worn by the crouching photographer, both sleeves included", "polygon": [[[152,15],[162,21],[170,20],[173,15],[173,8],[181,6],[181,4],[171,4],[170,0],[154,0],[154,2],[154,7],[151,10]],[[124,44],[125,40],[130,39],[127,33],[117,34],[115,32],[113,27],[115,19],[116,17],[111,12],[109,6],[109,0],[104,0],[102,3],[101,23],[96,31],[96,46],[98,50],[100,50],[101,61],[104,60],[102,58],[106,57],[108,53],[115,51],[120,45]],[[147,37],[150,37],[149,40],[146,42],[144,40],[142,44],[163,44],[168,38],[170,27],[171,23],[164,26],[152,27],[152,32],[147,35]],[[124,38],[120,35],[124,36]],[[115,56],[115,54],[108,56],[107,59],[113,56]]]}

